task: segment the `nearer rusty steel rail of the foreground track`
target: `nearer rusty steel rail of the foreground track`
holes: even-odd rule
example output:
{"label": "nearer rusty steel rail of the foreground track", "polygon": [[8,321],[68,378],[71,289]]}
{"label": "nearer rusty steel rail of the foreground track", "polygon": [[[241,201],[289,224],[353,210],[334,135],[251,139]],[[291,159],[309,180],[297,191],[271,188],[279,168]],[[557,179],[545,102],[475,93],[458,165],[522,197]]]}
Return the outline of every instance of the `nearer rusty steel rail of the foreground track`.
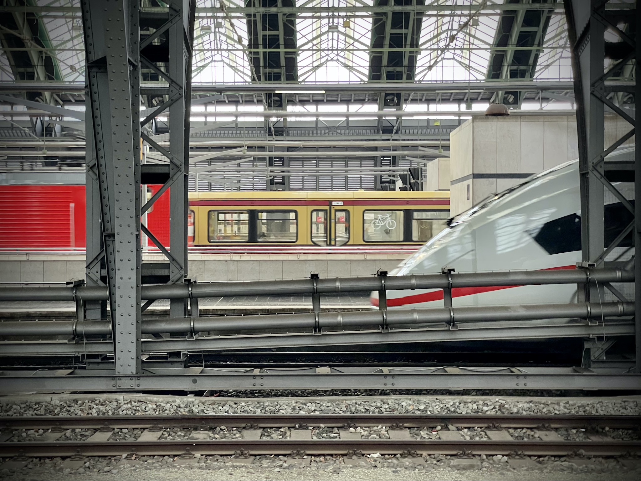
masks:
{"label": "nearer rusty steel rail of the foreground track", "polygon": [[243,451],[250,455],[291,455],[304,451],[307,455],[347,454],[397,454],[416,451],[417,454],[449,454],[470,452],[475,455],[507,455],[515,451],[531,456],[565,456],[583,450],[584,455],[619,456],[641,453],[641,441],[444,441],[396,439],[207,439],[183,441],[106,441],[106,442],[11,442],[0,443],[0,456],[117,456],[126,453],[137,455],[233,455]]}

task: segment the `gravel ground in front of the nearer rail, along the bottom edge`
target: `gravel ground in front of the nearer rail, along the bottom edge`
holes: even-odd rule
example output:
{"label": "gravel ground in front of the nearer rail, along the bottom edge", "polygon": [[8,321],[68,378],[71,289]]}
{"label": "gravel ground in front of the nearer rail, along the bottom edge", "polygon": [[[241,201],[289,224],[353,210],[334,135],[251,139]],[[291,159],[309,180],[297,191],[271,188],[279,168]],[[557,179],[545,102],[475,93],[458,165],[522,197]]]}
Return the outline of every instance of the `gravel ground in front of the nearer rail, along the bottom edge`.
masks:
{"label": "gravel ground in front of the nearer rail, along the bottom edge", "polygon": [[[512,467],[508,457],[484,455],[465,458],[475,469],[457,470],[460,458],[429,455],[403,458],[381,455],[313,456],[290,459],[285,456],[256,456],[240,462],[235,457],[194,455],[187,464],[174,456],[90,457],[79,468],[65,467],[58,458],[29,459],[25,468],[2,469],[0,479],[16,481],[108,480],[108,481],[306,481],[322,480],[407,480],[407,481],[628,481],[637,480],[641,463],[612,458],[567,457],[522,458],[528,466]],[[638,460],[637,460],[638,461]],[[457,464],[458,463],[458,464]],[[468,463],[470,464],[470,463]]]}

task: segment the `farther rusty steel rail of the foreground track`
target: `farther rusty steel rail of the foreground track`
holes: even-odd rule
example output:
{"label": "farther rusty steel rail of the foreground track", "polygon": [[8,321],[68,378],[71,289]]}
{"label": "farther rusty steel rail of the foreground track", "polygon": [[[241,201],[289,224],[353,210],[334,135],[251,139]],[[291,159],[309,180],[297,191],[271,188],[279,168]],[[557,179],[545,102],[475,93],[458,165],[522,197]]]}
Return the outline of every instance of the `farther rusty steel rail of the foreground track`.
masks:
{"label": "farther rusty steel rail of the foreground track", "polygon": [[400,426],[453,425],[462,428],[595,428],[638,429],[641,416],[576,416],[522,414],[212,414],[180,416],[2,416],[0,429],[99,429],[110,428],[203,428],[227,426],[258,428],[308,426]]}

